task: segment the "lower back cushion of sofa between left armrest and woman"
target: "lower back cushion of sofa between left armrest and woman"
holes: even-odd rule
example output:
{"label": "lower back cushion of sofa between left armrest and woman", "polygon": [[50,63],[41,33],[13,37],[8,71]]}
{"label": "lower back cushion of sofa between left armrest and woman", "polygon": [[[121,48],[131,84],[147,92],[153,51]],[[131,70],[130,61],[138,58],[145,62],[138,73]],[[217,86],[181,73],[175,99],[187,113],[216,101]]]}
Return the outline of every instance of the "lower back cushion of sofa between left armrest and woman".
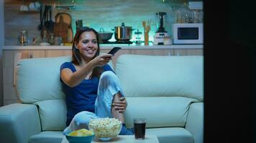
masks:
{"label": "lower back cushion of sofa between left armrest and woman", "polygon": [[45,100],[36,102],[40,114],[42,131],[63,131],[67,108],[64,99]]}

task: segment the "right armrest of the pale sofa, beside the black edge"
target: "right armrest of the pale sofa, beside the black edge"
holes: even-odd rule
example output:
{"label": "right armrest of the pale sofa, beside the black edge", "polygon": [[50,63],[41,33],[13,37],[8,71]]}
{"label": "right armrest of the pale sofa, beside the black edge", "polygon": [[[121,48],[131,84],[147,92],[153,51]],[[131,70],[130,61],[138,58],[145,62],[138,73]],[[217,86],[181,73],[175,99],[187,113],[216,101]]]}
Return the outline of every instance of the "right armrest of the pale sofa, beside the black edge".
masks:
{"label": "right armrest of the pale sofa, beside the black edge", "polygon": [[204,142],[204,103],[191,104],[185,127],[194,137],[194,143]]}

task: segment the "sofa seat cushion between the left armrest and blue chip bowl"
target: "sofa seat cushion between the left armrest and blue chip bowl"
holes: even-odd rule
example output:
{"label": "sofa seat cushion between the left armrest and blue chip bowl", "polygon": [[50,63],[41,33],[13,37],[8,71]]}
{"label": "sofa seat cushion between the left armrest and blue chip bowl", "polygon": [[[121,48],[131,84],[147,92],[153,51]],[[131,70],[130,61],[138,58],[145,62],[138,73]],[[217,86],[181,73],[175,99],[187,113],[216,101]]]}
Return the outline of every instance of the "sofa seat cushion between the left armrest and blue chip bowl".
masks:
{"label": "sofa seat cushion between the left armrest and blue chip bowl", "polygon": [[63,140],[62,131],[45,131],[29,138],[29,143],[57,143]]}

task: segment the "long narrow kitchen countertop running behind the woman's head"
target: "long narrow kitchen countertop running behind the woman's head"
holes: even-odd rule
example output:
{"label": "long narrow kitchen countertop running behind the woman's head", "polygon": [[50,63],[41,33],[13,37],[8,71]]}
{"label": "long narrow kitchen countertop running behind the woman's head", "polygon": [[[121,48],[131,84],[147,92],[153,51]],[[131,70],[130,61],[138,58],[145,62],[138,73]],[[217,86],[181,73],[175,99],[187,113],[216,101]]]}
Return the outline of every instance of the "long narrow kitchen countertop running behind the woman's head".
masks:
{"label": "long narrow kitchen countertop running behind the woman's head", "polygon": [[[128,44],[101,44],[101,49],[111,49],[114,46],[120,46],[122,49],[204,49],[202,44],[174,44],[174,45],[152,45],[137,46]],[[3,50],[20,49],[71,49],[72,46],[4,46]]]}

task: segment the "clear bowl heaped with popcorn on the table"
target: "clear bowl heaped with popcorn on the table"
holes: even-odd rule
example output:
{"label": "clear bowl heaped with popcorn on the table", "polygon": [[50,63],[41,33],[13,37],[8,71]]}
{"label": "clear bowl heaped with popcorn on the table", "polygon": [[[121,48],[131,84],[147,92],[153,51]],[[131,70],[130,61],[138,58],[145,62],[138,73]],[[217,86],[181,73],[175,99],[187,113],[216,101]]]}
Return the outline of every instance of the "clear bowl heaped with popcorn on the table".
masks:
{"label": "clear bowl heaped with popcorn on the table", "polygon": [[122,129],[122,122],[115,118],[98,118],[91,119],[88,124],[91,131],[94,132],[95,137],[106,141],[114,139]]}

